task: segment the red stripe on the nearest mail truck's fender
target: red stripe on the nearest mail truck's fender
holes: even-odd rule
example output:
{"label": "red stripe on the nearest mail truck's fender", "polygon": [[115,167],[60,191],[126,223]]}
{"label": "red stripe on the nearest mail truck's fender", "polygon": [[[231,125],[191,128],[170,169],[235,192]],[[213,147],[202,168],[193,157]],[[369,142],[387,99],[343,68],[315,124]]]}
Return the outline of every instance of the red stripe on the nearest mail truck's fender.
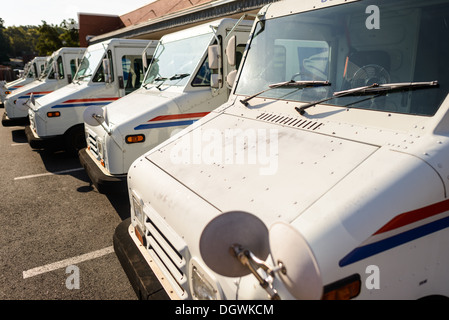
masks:
{"label": "red stripe on the nearest mail truck's fender", "polygon": [[449,200],[444,200],[442,202],[438,202],[424,208],[405,212],[394,217],[392,220],[390,220],[390,222],[388,222],[374,234],[376,235],[393,229],[397,229],[410,223],[435,216],[448,210],[449,210]]}

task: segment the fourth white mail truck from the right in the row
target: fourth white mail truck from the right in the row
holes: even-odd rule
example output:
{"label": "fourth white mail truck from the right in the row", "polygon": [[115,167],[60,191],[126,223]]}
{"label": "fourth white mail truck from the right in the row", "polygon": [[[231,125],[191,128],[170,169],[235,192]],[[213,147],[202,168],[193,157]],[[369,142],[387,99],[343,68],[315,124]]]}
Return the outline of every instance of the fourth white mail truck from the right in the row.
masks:
{"label": "fourth white mail truck from the right in the row", "polygon": [[28,123],[28,106],[31,95],[35,99],[72,82],[76,73],[77,60],[83,56],[86,48],[62,47],[50,56],[41,76],[9,94],[4,102],[4,126]]}

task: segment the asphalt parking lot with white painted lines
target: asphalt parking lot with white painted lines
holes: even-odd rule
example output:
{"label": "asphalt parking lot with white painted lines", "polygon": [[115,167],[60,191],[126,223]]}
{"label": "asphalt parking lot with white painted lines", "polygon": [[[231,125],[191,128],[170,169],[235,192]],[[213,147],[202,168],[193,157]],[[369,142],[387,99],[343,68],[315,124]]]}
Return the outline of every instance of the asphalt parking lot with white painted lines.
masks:
{"label": "asphalt parking lot with white painted lines", "polygon": [[33,150],[24,128],[0,125],[0,299],[135,300],[112,247],[127,195],[98,193],[77,157]]}

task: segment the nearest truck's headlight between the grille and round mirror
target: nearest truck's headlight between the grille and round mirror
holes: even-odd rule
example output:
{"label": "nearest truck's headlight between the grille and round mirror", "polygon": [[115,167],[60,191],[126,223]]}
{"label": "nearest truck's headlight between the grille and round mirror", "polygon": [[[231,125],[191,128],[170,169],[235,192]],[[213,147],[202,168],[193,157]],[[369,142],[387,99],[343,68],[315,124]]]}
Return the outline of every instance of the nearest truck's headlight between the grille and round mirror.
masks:
{"label": "nearest truck's headlight between the grille and round mirror", "polygon": [[190,260],[190,291],[195,300],[218,300],[221,290],[214,279],[201,268],[198,261]]}

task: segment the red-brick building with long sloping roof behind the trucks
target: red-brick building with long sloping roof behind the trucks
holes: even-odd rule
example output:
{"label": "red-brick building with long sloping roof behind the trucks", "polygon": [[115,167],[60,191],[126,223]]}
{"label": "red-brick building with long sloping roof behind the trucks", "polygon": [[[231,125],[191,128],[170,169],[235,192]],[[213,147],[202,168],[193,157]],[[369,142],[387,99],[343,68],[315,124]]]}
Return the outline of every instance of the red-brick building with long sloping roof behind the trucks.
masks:
{"label": "red-brick building with long sloping roof behind the trucks", "polygon": [[111,38],[158,40],[166,33],[207,21],[255,14],[276,1],[156,0],[120,16],[78,13],[80,45],[87,47]]}

